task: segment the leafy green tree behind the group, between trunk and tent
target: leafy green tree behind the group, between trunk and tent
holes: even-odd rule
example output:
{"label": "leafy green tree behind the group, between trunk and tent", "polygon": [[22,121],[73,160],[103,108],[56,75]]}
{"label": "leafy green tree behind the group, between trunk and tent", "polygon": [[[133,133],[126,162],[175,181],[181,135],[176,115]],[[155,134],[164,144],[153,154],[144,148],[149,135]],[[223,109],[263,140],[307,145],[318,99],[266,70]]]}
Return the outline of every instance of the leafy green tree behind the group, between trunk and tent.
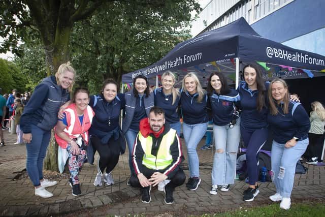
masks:
{"label": "leafy green tree behind the group, between trunk and tent", "polygon": [[151,65],[188,39],[188,31],[180,29],[188,26],[190,12],[199,11],[199,5],[166,2],[159,7],[114,2],[76,24],[72,60],[83,85],[99,91],[99,84],[108,77],[120,82],[122,74]]}

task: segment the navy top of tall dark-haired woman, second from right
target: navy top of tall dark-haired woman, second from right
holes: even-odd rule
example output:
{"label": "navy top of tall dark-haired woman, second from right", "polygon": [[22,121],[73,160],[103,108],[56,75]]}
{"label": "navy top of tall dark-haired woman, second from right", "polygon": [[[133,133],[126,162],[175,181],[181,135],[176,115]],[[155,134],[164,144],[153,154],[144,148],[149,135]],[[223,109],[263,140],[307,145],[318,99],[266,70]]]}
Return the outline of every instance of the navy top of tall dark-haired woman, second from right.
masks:
{"label": "navy top of tall dark-haired woman, second from right", "polygon": [[266,107],[261,112],[257,111],[257,96],[258,90],[250,90],[245,81],[241,81],[238,86],[240,96],[240,107],[242,112],[240,114],[240,125],[244,129],[257,130],[268,128],[267,116],[269,113],[267,90],[270,82],[265,82],[265,104]]}

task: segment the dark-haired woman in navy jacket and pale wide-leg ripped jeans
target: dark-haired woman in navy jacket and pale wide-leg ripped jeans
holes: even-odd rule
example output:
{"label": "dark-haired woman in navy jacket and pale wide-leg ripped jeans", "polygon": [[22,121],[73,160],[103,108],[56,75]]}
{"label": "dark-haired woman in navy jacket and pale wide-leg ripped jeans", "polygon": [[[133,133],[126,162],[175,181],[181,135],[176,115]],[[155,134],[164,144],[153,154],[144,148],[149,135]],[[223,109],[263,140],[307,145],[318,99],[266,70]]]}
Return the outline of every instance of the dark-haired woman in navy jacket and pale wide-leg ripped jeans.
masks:
{"label": "dark-haired woman in navy jacket and pale wide-leg ripped jeans", "polygon": [[212,167],[212,187],[210,194],[229,191],[236,174],[236,157],[240,141],[239,118],[235,102],[240,100],[236,90],[230,89],[222,73],[211,73],[208,83],[208,95],[213,115],[213,134],[215,149]]}

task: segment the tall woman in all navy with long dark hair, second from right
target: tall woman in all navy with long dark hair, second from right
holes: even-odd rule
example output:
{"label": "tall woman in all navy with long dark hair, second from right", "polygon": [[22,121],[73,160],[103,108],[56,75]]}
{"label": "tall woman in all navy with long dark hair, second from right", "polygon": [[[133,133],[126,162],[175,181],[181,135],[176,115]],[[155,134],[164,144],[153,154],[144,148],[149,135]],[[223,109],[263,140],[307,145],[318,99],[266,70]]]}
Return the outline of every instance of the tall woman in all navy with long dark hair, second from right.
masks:
{"label": "tall woman in all navy with long dark hair, second from right", "polygon": [[244,80],[240,82],[241,137],[247,148],[246,162],[249,188],[244,191],[244,201],[253,201],[258,190],[258,152],[268,138],[267,89],[269,82],[263,80],[262,72],[256,65],[243,68]]}

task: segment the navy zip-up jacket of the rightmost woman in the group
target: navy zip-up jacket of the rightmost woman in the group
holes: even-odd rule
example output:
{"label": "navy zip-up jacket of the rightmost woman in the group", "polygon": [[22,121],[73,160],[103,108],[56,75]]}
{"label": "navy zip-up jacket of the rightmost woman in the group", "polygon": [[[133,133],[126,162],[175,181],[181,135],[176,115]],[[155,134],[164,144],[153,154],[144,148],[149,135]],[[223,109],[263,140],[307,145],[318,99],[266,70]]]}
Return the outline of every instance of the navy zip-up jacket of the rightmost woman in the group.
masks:
{"label": "navy zip-up jacket of the rightmost woman in the group", "polygon": [[290,101],[289,113],[284,114],[282,104],[277,105],[277,115],[268,114],[273,139],[278,143],[285,144],[294,137],[300,140],[308,138],[310,121],[304,107],[300,103]]}

